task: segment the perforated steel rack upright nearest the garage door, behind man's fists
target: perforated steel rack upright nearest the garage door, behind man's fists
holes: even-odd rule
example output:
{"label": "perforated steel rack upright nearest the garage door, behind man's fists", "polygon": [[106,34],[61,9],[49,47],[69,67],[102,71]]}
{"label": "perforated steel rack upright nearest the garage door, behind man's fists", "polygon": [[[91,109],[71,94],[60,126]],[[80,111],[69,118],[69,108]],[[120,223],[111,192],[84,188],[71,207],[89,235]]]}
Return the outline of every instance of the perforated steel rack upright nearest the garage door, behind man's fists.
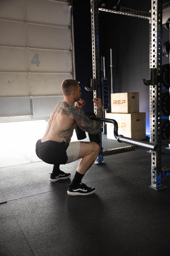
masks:
{"label": "perforated steel rack upright nearest the garage door, behind man's fists", "polygon": [[[92,76],[95,80],[96,88],[94,90],[94,98],[100,98],[100,57],[99,57],[99,22],[98,22],[98,0],[90,0],[91,5],[91,41],[92,41]],[[94,105],[94,113],[97,114],[97,107]],[[103,162],[103,150],[100,137],[100,153],[98,156],[98,163]]]}

